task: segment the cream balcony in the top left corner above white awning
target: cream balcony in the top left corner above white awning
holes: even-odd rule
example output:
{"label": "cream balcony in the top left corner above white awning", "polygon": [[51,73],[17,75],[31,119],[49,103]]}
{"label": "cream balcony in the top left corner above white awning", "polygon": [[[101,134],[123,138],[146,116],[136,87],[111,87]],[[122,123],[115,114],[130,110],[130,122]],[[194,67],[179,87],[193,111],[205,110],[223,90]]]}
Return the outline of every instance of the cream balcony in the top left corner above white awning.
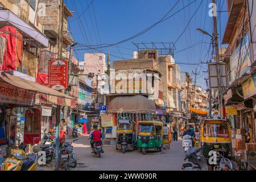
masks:
{"label": "cream balcony in the top left corner above white awning", "polygon": [[28,14],[30,6],[26,1],[20,0],[0,0],[0,5],[12,11],[16,16],[28,23]]}

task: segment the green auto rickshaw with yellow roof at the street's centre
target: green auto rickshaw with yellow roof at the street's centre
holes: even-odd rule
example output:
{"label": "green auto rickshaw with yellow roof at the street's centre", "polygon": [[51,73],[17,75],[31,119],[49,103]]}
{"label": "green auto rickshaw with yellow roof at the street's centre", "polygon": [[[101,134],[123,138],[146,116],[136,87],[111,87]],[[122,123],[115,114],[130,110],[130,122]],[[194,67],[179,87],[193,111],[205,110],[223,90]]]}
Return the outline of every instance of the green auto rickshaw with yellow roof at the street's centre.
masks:
{"label": "green auto rickshaw with yellow roof at the street's centre", "polygon": [[148,149],[162,151],[163,146],[163,123],[158,121],[139,121],[137,147],[142,154]]}

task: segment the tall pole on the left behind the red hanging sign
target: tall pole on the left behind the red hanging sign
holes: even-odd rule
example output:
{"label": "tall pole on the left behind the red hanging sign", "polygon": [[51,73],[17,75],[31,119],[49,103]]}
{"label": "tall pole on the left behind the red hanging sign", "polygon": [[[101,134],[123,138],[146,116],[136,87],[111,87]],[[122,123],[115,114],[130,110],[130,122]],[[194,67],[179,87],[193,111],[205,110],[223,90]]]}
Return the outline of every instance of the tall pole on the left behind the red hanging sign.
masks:
{"label": "tall pole on the left behind the red hanging sign", "polygon": [[[58,37],[58,58],[62,58],[62,47],[63,47],[63,13],[64,13],[64,0],[60,1],[59,5],[59,37]],[[57,106],[56,112],[56,150],[55,150],[55,171],[59,171],[59,151],[60,151],[60,110],[61,107]]]}

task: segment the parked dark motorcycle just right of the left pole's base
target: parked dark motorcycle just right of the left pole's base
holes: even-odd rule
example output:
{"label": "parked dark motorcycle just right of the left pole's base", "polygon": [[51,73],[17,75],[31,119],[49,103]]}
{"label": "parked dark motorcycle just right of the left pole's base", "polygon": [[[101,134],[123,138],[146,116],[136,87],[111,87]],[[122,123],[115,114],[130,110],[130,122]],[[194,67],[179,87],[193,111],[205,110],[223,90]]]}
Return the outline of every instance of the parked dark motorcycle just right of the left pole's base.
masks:
{"label": "parked dark motorcycle just right of the left pole's base", "polygon": [[75,142],[76,140],[73,140],[72,142],[69,142],[67,140],[64,143],[63,147],[61,147],[60,149],[60,156],[61,156],[65,171],[69,171],[69,167],[75,168],[77,166],[77,156],[76,154],[73,154],[73,146],[72,146],[72,143]]}

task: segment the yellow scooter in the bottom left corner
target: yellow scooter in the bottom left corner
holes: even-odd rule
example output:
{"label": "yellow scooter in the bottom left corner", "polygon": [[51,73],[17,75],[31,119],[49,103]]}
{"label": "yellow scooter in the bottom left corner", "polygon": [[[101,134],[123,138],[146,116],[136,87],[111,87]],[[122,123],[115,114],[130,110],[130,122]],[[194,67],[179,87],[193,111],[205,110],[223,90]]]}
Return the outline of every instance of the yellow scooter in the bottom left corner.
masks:
{"label": "yellow scooter in the bottom left corner", "polygon": [[36,171],[38,158],[36,154],[26,154],[23,150],[11,148],[12,158],[6,158],[1,171]]}

